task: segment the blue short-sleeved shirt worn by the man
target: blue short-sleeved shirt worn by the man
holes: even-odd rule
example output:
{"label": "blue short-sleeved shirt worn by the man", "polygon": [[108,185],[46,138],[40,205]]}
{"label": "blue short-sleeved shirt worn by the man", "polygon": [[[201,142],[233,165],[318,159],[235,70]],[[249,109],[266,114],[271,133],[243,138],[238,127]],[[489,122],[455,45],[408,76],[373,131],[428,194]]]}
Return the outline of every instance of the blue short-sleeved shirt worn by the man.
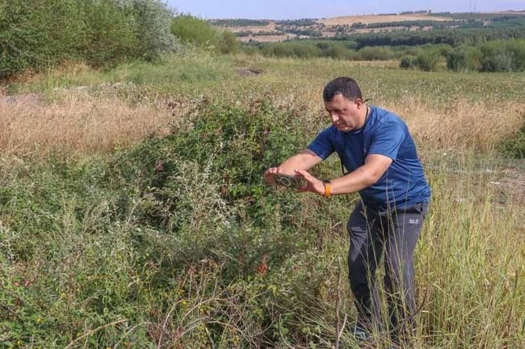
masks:
{"label": "blue short-sleeved shirt worn by the man", "polygon": [[397,115],[376,106],[360,129],[342,132],[335,126],[323,130],[308,147],[321,159],[337,152],[348,171],[365,164],[365,157],[379,154],[392,159],[377,183],[360,190],[367,206],[404,208],[430,200],[430,187],[417,156],[408,127]]}

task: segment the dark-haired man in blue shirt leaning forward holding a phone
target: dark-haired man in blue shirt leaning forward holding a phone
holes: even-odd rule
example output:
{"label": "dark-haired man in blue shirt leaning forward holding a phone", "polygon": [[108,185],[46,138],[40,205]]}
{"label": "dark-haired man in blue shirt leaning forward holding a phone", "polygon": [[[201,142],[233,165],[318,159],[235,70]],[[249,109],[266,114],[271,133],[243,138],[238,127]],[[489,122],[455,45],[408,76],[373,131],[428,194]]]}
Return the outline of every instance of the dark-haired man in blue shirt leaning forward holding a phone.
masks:
{"label": "dark-haired man in blue shirt leaning forward holding a phone", "polygon": [[[274,173],[304,178],[300,192],[328,197],[359,192],[360,202],[350,215],[349,281],[358,319],[355,334],[367,337],[380,328],[379,298],[374,273],[385,250],[390,323],[388,332],[399,341],[413,330],[414,267],[412,253],[430,200],[430,187],[407,125],[397,115],[368,106],[351,78],[336,78],[323,90],[332,125],[308,147],[267,169],[267,183]],[[337,152],[349,171],[339,178],[322,181],[307,172]]]}

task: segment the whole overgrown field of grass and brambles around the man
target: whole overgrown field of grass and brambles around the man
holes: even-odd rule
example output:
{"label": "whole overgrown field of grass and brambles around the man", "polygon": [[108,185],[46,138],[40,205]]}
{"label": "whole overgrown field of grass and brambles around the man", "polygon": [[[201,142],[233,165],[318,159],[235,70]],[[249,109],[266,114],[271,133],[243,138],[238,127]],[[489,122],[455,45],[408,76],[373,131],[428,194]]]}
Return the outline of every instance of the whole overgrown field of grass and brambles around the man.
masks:
{"label": "whole overgrown field of grass and brambles around the man", "polygon": [[[335,346],[336,322],[355,319],[357,198],[261,176],[329,124],[335,76],[406,120],[433,190],[412,345],[523,346],[525,162],[499,152],[524,125],[523,73],[202,52],[3,89],[0,346]],[[315,173],[338,176],[337,159]]]}

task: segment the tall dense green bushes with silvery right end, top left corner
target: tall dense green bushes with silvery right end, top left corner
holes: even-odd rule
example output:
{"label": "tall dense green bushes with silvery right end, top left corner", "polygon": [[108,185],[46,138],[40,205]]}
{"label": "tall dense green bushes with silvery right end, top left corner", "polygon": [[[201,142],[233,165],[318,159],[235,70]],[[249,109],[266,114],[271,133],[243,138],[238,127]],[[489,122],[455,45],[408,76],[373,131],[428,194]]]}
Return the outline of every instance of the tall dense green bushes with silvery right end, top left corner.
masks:
{"label": "tall dense green bushes with silvery right end, top left corner", "polygon": [[107,66],[176,50],[159,0],[0,0],[0,78],[68,59]]}

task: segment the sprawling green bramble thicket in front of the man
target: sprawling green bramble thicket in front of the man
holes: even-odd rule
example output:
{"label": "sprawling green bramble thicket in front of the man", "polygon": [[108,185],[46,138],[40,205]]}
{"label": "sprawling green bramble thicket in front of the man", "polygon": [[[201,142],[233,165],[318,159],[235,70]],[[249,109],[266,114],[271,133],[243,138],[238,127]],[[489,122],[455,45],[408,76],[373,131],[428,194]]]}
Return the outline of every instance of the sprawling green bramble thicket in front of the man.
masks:
{"label": "sprawling green bramble thicket in front of the man", "polygon": [[[129,324],[87,337],[90,346],[125,339],[148,347],[160,342],[153,325],[168,319],[186,328],[200,314],[209,324],[162,343],[234,343],[232,327],[263,343],[293,343],[305,327],[317,333],[315,321],[288,314],[300,316],[297,299],[315,299],[326,285],[330,262],[316,251],[316,232],[333,212],[321,198],[276,191],[261,176],[304,147],[300,127],[290,127],[300,116],[265,101],[250,111],[197,109],[191,126],[106,159],[57,157],[0,176],[2,339],[64,347],[124,318]],[[344,210],[348,200],[331,202]],[[20,265],[38,278],[14,273]],[[300,268],[283,273],[291,266]],[[31,287],[20,286],[25,280]],[[246,340],[237,343],[250,346]]]}

